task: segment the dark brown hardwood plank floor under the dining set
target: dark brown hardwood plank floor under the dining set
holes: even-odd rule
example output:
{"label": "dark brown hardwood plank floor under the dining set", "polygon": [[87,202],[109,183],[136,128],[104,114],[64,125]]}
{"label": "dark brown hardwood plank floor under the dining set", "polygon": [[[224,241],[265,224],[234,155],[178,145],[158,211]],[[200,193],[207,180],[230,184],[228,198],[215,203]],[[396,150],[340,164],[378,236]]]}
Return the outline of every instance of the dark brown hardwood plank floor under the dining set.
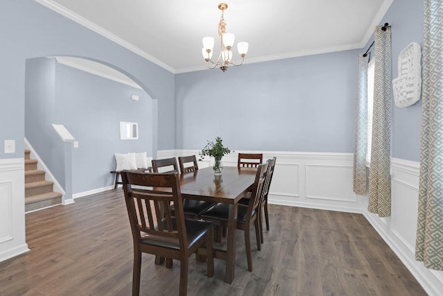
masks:
{"label": "dark brown hardwood plank floor under the dining set", "polygon": [[[239,231],[233,283],[224,283],[224,261],[215,259],[209,279],[206,263],[191,258],[188,295],[426,295],[362,215],[273,204],[269,212],[253,272]],[[121,189],[27,214],[26,241],[30,252],[0,263],[0,295],[131,294]],[[143,254],[141,295],[177,295],[179,272],[179,262],[168,269]]]}

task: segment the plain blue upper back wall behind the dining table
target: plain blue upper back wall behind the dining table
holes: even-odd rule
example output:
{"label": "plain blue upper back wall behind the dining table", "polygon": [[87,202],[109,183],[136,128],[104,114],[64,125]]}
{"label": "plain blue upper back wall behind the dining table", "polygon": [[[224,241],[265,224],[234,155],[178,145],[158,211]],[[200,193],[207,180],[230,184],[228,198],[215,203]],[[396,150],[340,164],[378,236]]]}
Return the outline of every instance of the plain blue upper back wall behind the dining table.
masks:
{"label": "plain blue upper back wall behind the dining table", "polygon": [[177,148],[352,153],[357,53],[176,75]]}

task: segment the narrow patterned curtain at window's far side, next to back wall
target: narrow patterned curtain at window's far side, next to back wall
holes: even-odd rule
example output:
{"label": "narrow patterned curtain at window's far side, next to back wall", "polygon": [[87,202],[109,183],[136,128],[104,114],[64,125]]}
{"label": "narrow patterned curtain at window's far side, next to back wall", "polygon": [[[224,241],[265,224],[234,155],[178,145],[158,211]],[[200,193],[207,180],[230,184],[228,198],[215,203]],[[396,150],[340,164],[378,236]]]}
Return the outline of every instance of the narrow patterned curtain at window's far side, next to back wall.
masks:
{"label": "narrow patterned curtain at window's far side, next to back wall", "polygon": [[366,195],[366,148],[368,145],[368,60],[357,58],[357,98],[355,104],[354,193]]}

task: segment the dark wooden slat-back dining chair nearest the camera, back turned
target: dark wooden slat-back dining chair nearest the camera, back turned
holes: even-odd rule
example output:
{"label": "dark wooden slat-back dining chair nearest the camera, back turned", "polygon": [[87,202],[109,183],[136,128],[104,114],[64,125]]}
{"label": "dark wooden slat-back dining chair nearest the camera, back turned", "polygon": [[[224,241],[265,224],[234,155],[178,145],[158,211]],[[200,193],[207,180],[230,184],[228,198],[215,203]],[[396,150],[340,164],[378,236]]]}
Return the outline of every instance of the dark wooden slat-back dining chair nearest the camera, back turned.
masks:
{"label": "dark wooden slat-back dining chair nearest the camera, back turned", "polygon": [[[213,277],[213,223],[184,217],[179,174],[122,171],[121,175],[134,242],[132,295],[140,293],[142,253],[180,261],[179,295],[187,293],[188,260],[194,252],[207,257],[207,275]],[[171,202],[175,216],[166,210]]]}

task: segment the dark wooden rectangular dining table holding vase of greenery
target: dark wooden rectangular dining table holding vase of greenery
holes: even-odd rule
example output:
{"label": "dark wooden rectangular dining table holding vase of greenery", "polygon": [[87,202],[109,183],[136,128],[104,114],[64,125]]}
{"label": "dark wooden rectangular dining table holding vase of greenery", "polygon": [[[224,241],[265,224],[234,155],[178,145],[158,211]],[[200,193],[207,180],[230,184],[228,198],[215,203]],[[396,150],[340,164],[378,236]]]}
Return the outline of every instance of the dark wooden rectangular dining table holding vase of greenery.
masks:
{"label": "dark wooden rectangular dining table holding vase of greenery", "polygon": [[226,250],[215,250],[215,258],[226,260],[224,281],[232,283],[235,274],[237,204],[252,189],[256,168],[226,166],[215,176],[212,167],[180,175],[182,198],[229,204]]}

